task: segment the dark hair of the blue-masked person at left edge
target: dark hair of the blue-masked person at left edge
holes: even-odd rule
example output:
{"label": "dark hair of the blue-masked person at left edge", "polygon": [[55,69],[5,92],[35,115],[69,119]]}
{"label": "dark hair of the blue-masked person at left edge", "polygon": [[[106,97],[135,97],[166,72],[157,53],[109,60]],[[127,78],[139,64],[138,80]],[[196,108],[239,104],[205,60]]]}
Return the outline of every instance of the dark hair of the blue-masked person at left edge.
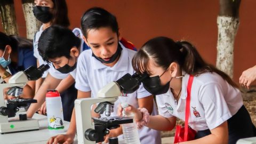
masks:
{"label": "dark hair of the blue-masked person at left edge", "polygon": [[17,40],[11,36],[7,36],[0,31],[0,50],[4,51],[6,45],[10,45],[13,51],[17,51],[18,49]]}

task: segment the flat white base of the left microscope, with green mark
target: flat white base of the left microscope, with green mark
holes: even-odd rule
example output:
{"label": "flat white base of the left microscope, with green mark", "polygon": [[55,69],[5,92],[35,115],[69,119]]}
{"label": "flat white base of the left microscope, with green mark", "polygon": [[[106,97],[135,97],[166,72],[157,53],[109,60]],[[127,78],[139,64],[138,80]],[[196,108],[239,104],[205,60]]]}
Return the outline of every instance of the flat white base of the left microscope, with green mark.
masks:
{"label": "flat white base of the left microscope, with green mark", "polygon": [[33,130],[39,130],[39,123],[37,119],[27,119],[26,121],[11,121],[7,123],[0,123],[1,134]]}

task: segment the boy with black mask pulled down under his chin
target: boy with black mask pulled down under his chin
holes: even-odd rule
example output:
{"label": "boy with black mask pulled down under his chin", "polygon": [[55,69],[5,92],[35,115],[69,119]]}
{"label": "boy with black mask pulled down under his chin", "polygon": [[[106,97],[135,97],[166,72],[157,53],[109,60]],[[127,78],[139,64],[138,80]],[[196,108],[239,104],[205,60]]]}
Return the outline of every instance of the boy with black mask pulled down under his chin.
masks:
{"label": "boy with black mask pulled down under his chin", "polygon": [[[84,41],[91,50],[81,53],[77,62],[76,88],[77,98],[96,97],[97,92],[109,82],[116,81],[123,75],[133,74],[131,60],[135,51],[126,49],[118,41],[121,36],[118,31],[116,17],[108,11],[94,7],[87,10],[81,21]],[[120,102],[128,102],[134,107],[146,107],[152,115],[156,114],[153,95],[150,95],[142,86],[132,94],[123,94],[116,102],[114,113]],[[112,113],[112,116],[113,114]],[[98,116],[94,114],[93,116]],[[72,143],[75,137],[75,114],[71,118],[67,134],[52,137],[48,143]],[[110,130],[106,137],[117,137],[122,134],[122,128]],[[145,127],[139,131],[141,143],[161,143],[158,131]]]}

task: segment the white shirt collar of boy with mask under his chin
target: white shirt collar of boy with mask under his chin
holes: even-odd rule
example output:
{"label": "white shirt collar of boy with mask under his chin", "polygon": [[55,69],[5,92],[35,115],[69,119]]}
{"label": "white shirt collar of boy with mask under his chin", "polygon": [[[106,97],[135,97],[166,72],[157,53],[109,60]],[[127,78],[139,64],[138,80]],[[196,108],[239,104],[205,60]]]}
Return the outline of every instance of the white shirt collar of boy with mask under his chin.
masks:
{"label": "white shirt collar of boy with mask under his chin", "polygon": [[[120,42],[119,45],[122,47],[121,55],[113,67],[109,67],[110,70],[113,71],[126,71],[128,69],[128,51],[126,47],[124,47]],[[93,69],[102,69],[108,66],[104,65],[102,62],[92,57]]]}

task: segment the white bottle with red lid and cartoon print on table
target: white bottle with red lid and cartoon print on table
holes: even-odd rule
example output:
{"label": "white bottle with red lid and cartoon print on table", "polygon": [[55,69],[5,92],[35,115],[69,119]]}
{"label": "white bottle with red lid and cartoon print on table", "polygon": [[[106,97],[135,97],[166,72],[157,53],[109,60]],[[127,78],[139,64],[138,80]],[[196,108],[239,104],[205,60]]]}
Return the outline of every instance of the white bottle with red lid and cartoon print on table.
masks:
{"label": "white bottle with red lid and cartoon print on table", "polygon": [[50,133],[64,132],[64,119],[60,93],[57,90],[47,90],[45,101],[48,129]]}

